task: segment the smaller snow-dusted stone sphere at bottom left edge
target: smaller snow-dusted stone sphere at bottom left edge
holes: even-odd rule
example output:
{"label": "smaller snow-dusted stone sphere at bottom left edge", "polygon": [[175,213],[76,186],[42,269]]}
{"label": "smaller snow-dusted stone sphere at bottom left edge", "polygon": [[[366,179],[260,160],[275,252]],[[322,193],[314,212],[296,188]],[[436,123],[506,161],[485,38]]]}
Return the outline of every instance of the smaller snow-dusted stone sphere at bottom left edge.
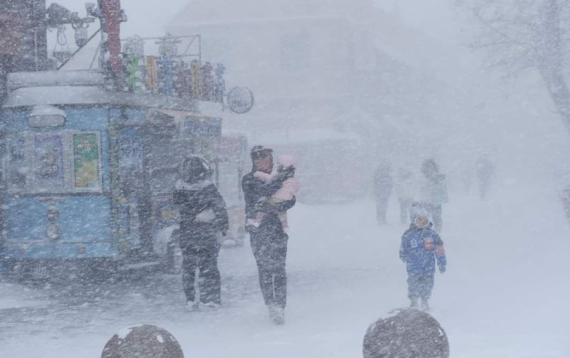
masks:
{"label": "smaller snow-dusted stone sphere at bottom left edge", "polygon": [[184,358],[174,336],[152,325],[128,327],[109,339],[101,358]]}

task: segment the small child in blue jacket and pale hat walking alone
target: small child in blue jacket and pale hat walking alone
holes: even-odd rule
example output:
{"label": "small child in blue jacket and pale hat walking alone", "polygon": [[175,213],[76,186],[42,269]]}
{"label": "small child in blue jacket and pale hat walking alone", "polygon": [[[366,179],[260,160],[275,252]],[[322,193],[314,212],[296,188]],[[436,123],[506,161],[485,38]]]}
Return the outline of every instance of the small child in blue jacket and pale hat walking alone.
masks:
{"label": "small child in blue jacket and pale hat walking alone", "polygon": [[400,258],[405,262],[408,270],[408,298],[412,302],[410,307],[418,307],[418,298],[422,299],[424,310],[429,310],[427,300],[432,295],[435,260],[440,273],[445,273],[447,259],[443,241],[432,230],[429,212],[418,204],[410,209],[412,224],[402,236]]}

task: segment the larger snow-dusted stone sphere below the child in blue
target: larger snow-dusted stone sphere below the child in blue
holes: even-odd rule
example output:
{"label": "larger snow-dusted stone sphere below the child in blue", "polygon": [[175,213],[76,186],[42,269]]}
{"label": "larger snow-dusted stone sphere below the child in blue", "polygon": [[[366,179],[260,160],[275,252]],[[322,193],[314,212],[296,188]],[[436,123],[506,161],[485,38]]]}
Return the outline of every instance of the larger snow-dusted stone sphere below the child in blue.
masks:
{"label": "larger snow-dusted stone sphere below the child in blue", "polygon": [[364,358],[448,358],[450,344],[434,317],[399,309],[368,327],[363,354]]}

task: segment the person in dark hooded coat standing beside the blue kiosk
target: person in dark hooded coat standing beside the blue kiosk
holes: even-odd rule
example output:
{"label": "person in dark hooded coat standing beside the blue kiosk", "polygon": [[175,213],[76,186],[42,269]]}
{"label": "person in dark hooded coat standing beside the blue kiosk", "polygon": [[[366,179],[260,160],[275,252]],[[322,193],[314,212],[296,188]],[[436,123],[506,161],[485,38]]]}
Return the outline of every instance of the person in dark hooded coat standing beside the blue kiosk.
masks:
{"label": "person in dark hooded coat standing beside the blue kiosk", "polygon": [[[180,208],[180,248],[182,249],[182,286],[187,307],[217,308],[220,276],[217,267],[219,236],[225,236],[229,221],[224,199],[209,181],[212,170],[202,157],[182,163],[182,179],[177,181],[174,202]],[[195,298],[195,272],[199,270],[199,302]]]}

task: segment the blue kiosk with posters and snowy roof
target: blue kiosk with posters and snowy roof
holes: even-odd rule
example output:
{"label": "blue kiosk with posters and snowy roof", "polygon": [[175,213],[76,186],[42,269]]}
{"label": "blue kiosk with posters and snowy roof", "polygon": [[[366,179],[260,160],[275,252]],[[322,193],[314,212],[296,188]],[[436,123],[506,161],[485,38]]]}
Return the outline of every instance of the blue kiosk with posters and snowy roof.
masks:
{"label": "blue kiosk with posters and snowy roof", "polygon": [[108,90],[91,70],[12,73],[0,112],[0,254],[11,275],[101,273],[173,260],[170,191],[188,154],[212,162],[243,242],[247,141],[198,102]]}

